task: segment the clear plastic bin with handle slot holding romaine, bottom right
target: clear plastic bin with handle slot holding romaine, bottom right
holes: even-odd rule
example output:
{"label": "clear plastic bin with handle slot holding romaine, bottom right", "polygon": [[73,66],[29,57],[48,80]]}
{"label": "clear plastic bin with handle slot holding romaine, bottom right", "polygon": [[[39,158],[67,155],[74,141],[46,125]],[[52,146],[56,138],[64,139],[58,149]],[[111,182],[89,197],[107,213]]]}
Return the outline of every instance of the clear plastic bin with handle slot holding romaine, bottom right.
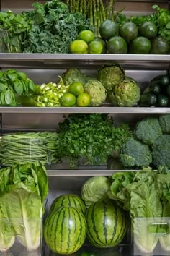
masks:
{"label": "clear plastic bin with handle slot holding romaine, bottom right", "polygon": [[133,255],[170,255],[170,218],[135,218]]}

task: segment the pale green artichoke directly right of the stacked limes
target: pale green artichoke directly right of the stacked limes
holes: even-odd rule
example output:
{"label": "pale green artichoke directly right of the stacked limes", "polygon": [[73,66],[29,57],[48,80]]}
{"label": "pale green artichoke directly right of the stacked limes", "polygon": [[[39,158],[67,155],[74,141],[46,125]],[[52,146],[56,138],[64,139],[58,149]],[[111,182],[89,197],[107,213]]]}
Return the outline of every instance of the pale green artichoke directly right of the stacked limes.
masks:
{"label": "pale green artichoke directly right of the stacked limes", "polygon": [[100,106],[107,98],[107,90],[102,83],[97,80],[89,80],[89,82],[84,85],[84,91],[91,97],[90,106]]}

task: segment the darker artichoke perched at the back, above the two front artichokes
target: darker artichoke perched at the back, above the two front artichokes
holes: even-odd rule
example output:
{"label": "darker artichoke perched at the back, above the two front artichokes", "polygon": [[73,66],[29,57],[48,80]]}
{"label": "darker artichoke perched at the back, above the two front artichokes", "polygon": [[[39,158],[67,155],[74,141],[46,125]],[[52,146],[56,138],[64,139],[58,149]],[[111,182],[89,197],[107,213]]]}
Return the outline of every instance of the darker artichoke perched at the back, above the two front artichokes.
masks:
{"label": "darker artichoke perched at the back, above the two front artichokes", "polygon": [[119,64],[106,64],[98,70],[97,79],[102,82],[106,90],[112,90],[125,79],[125,71]]}

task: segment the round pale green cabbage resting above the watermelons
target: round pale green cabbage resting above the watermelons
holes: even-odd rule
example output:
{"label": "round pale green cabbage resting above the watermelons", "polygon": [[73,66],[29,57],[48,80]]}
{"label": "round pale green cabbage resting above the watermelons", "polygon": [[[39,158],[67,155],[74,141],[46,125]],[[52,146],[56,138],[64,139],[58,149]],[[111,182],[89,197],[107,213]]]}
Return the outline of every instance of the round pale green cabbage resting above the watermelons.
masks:
{"label": "round pale green cabbage resting above the watermelons", "polygon": [[109,179],[104,176],[94,176],[88,179],[81,187],[81,198],[86,207],[89,208],[94,202],[107,197],[110,186]]}

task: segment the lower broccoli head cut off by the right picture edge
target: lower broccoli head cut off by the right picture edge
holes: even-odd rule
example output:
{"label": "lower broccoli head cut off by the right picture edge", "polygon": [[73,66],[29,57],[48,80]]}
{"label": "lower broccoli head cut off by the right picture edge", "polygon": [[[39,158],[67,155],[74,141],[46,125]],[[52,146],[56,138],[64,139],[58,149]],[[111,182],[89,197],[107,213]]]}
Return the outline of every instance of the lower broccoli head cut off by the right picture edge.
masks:
{"label": "lower broccoli head cut off by the right picture edge", "polygon": [[170,168],[170,135],[162,135],[152,147],[153,166]]}

